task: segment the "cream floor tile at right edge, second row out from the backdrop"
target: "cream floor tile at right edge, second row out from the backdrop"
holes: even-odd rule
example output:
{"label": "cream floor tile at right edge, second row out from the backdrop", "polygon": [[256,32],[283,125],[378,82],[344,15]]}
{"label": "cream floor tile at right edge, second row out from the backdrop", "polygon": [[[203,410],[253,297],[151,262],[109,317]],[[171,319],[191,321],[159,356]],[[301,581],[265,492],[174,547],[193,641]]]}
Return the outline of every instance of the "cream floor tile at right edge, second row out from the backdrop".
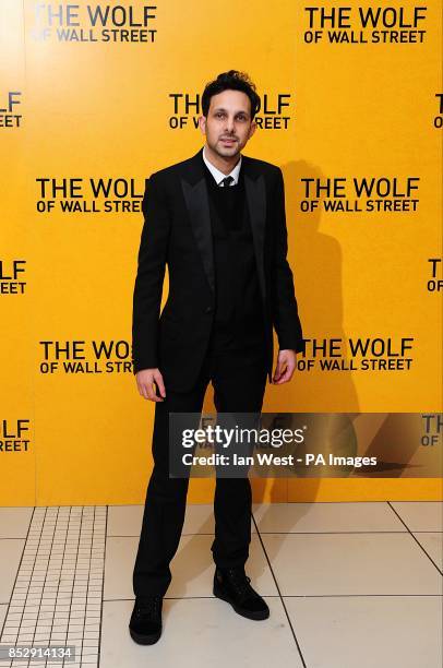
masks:
{"label": "cream floor tile at right edge, second row out from the backdrop", "polygon": [[409,534],[263,534],[262,540],[283,596],[441,593],[441,575]]}

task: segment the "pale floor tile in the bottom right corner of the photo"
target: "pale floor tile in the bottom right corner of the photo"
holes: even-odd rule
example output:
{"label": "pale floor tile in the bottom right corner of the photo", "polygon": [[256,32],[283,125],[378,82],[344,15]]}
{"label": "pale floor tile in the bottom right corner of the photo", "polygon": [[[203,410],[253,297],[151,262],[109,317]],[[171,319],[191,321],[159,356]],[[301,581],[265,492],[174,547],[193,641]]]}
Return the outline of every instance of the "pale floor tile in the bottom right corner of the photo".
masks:
{"label": "pale floor tile in the bottom right corner of the photo", "polygon": [[439,668],[434,596],[284,597],[308,668]]}

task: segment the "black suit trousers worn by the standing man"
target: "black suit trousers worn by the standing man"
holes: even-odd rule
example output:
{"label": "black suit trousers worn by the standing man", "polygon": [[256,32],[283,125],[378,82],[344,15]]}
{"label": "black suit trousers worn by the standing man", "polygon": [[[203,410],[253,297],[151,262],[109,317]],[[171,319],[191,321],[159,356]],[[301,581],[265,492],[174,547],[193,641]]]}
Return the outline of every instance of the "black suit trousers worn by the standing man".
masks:
{"label": "black suit trousers worn by the standing man", "polygon": [[[164,596],[171,582],[169,563],[183,528],[189,478],[169,478],[169,413],[201,414],[207,384],[218,413],[260,413],[266,386],[262,345],[216,351],[209,348],[190,392],[171,392],[155,405],[154,468],[147,486],[142,530],[133,571],[135,596]],[[251,541],[252,493],[249,478],[217,477],[214,496],[213,559],[220,568],[243,565]]]}

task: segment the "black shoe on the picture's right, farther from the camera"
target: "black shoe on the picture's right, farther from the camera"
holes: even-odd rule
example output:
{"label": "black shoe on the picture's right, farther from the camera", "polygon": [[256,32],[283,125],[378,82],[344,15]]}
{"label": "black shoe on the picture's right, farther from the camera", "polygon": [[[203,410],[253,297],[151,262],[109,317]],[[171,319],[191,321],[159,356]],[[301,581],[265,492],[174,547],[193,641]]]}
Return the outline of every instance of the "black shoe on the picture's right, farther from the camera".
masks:
{"label": "black shoe on the picture's right, farther from the camera", "polygon": [[263,598],[249,584],[251,578],[242,566],[230,569],[216,568],[214,573],[214,596],[229,603],[232,608],[248,619],[267,619],[270,608]]}

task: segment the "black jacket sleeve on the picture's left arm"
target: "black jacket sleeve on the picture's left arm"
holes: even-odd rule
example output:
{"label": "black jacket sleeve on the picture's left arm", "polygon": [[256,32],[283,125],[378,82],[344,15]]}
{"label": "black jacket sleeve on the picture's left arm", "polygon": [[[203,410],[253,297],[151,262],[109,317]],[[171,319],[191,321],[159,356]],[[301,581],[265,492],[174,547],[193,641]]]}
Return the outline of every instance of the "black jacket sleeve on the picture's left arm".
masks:
{"label": "black jacket sleeve on the picture's left arm", "polygon": [[133,373],[158,367],[157,337],[170,218],[157,177],[146,179],[144,225],[137,257],[132,306]]}

